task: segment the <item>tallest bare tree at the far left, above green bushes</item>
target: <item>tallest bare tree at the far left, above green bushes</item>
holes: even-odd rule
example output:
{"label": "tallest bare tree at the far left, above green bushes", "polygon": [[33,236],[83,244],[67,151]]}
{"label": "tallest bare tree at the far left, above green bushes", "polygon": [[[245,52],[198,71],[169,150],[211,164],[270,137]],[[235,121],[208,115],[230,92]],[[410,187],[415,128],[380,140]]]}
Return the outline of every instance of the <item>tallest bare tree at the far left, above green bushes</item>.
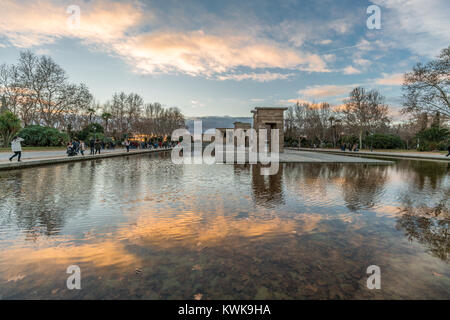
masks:
{"label": "tallest bare tree at the far left, above green bushes", "polygon": [[24,125],[64,127],[71,115],[88,108],[93,99],[84,84],[69,83],[52,58],[31,51],[21,52],[17,65],[0,67],[0,88],[9,109]]}

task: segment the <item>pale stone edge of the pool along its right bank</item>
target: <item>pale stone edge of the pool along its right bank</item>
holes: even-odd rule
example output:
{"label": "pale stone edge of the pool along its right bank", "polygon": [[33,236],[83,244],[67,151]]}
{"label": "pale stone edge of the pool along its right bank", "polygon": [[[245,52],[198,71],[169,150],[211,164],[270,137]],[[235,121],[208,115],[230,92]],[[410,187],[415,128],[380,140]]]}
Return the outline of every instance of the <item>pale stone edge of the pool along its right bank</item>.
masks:
{"label": "pale stone edge of the pool along its right bank", "polygon": [[[366,151],[339,151],[339,150],[329,150],[329,149],[311,149],[311,148],[291,148],[285,147],[287,150],[294,151],[307,151],[307,152],[321,152],[329,154],[345,155],[350,157],[361,157],[369,156],[374,158],[391,158],[391,159],[409,159],[409,160],[423,160],[423,161],[441,161],[450,162],[450,158],[438,155],[426,155],[426,154],[400,154],[400,153],[388,153],[388,152],[366,152]],[[367,158],[366,158],[367,159]]]}

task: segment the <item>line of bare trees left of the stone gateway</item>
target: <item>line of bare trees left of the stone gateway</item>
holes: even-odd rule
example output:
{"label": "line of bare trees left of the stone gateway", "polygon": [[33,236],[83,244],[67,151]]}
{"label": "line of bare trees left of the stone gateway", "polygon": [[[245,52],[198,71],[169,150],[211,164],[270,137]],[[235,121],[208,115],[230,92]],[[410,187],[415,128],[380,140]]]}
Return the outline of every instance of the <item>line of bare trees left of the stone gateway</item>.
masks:
{"label": "line of bare trees left of the stone gateway", "polygon": [[11,132],[21,126],[39,126],[46,132],[56,129],[70,139],[100,125],[105,136],[120,141],[133,135],[162,137],[185,125],[178,108],[144,103],[136,93],[118,92],[100,104],[85,84],[71,83],[51,57],[31,51],[21,52],[16,64],[0,65],[0,98],[0,135],[5,146]]}

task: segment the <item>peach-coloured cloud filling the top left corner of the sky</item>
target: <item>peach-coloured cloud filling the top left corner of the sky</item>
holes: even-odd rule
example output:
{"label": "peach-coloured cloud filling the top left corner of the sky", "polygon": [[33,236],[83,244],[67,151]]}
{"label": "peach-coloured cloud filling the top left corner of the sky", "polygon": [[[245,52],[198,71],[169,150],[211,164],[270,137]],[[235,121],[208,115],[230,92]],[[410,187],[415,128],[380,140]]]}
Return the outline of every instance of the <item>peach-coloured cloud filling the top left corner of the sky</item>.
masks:
{"label": "peach-coloured cloud filling the top left corner of the sky", "polygon": [[[70,2],[2,0],[0,35],[11,45],[28,48],[61,38],[80,38],[110,45],[138,25],[143,15],[135,2],[99,0],[80,6],[80,24],[71,27],[66,13]],[[146,16],[146,19],[149,19]]]}

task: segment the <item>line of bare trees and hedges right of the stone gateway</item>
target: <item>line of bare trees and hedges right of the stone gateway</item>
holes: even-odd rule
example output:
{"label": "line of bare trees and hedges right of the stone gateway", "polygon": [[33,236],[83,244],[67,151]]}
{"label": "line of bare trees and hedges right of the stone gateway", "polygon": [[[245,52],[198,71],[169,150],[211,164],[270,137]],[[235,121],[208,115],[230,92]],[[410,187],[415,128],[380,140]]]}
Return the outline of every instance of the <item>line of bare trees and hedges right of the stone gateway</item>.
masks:
{"label": "line of bare trees and hedges right of the stone gateway", "polygon": [[378,90],[354,88],[340,106],[297,103],[285,114],[285,140],[292,146],[446,149],[450,133],[450,47],[437,59],[404,75],[406,121],[395,123]]}

